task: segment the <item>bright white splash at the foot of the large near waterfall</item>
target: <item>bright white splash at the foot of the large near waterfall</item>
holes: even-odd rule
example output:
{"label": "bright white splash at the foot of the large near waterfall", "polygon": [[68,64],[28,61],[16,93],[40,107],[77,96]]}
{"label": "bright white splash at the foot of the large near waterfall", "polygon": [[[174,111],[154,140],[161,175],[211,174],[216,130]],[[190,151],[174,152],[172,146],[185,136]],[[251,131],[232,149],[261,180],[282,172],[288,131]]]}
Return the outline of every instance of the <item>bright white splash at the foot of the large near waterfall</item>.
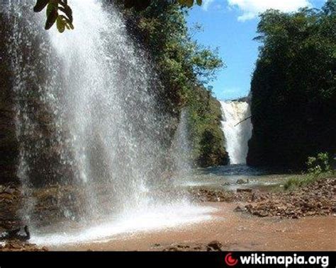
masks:
{"label": "bright white splash at the foot of the large near waterfall", "polygon": [[[128,214],[107,219],[89,227],[75,226],[64,232],[33,233],[31,243],[47,246],[67,244],[102,243],[130,235],[169,229],[186,229],[188,226],[213,219],[215,209],[206,206],[153,206],[128,211]],[[54,228],[57,228],[55,226]]]}

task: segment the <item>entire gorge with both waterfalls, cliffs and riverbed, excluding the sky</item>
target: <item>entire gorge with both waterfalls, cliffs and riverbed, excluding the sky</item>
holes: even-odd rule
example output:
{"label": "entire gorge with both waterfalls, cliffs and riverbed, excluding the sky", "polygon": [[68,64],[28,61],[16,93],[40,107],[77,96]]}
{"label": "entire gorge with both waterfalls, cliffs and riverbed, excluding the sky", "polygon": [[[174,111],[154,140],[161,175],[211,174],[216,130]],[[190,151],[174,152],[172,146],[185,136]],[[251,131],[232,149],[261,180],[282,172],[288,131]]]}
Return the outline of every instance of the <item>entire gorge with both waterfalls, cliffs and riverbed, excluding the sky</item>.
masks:
{"label": "entire gorge with both waterfalls, cliffs and riverbed, excluding the sky", "polygon": [[64,33],[0,4],[0,251],[335,248],[336,9],[263,13],[251,93],[218,100],[189,8],[146,3],[71,0]]}

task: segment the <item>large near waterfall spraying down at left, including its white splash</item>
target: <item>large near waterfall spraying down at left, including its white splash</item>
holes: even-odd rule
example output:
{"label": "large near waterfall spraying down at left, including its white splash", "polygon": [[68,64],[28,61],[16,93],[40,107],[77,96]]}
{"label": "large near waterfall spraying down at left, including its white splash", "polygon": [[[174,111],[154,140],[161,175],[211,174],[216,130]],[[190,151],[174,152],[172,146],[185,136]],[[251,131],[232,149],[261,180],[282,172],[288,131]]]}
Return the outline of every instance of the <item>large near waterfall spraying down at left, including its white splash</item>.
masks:
{"label": "large near waterfall spraying down at left, including its white splash", "polygon": [[[60,34],[43,30],[45,16],[33,13],[33,4],[10,1],[6,8],[22,216],[33,242],[74,243],[206,219],[206,210],[160,179],[170,119],[157,105],[159,81],[116,8],[73,0],[75,30]],[[62,225],[50,227],[56,219]],[[68,233],[67,222],[85,231]]]}

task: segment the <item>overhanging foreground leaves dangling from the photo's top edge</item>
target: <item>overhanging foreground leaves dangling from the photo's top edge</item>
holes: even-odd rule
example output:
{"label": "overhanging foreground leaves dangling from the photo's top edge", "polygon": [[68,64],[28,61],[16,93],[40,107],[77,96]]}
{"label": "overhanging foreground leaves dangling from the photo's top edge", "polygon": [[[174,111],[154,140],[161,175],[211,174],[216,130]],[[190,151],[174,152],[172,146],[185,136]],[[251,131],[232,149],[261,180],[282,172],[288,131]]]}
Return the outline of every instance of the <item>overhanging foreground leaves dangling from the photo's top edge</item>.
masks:
{"label": "overhanging foreground leaves dangling from the photo's top edge", "polygon": [[[174,1],[173,1],[174,2]],[[177,0],[181,6],[191,7],[194,5],[194,0]],[[125,8],[134,8],[135,11],[142,11],[150,4],[152,0],[123,0]],[[196,0],[196,4],[201,6],[202,0]],[[45,30],[52,28],[52,25],[56,23],[57,30],[60,33],[68,30],[73,30],[74,25],[72,24],[72,9],[67,4],[67,0],[37,0],[34,6],[35,12],[43,11],[47,7],[47,21],[45,23]],[[60,13],[61,12],[61,13]]]}

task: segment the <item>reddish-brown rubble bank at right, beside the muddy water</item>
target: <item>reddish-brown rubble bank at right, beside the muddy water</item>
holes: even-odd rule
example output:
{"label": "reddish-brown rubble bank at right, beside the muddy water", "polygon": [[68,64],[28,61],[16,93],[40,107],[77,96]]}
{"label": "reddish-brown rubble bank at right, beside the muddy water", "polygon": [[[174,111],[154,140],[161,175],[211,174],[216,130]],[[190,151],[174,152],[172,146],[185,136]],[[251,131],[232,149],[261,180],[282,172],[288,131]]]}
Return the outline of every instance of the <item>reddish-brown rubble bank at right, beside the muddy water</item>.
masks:
{"label": "reddish-brown rubble bank at right, beside the muddy water", "polygon": [[237,192],[224,192],[201,188],[191,193],[200,202],[245,202],[235,211],[261,217],[299,219],[336,214],[336,178],[320,179],[293,191],[259,192],[239,188]]}

